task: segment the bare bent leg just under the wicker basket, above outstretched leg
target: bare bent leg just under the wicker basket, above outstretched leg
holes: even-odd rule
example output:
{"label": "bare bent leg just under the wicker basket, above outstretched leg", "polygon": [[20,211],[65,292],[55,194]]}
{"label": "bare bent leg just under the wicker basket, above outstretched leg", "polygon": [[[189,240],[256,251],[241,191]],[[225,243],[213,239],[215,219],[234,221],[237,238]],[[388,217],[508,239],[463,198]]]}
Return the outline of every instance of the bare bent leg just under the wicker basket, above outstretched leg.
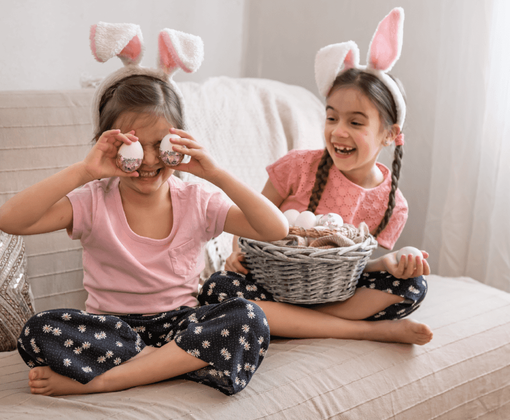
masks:
{"label": "bare bent leg just under the wicker basket, above outstretched leg", "polygon": [[404,298],[381,290],[360,287],[354,295],[342,302],[333,302],[314,307],[319,312],[329,313],[344,320],[364,320]]}

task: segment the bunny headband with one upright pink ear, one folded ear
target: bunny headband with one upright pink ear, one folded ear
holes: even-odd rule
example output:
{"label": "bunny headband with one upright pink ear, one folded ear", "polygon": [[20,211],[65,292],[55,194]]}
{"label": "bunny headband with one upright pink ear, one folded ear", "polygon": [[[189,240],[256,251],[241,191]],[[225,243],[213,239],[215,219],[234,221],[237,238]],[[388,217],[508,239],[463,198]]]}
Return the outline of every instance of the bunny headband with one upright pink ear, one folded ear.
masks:
{"label": "bunny headband with one upright pink ear, one folded ear", "polygon": [[[405,101],[395,81],[387,74],[400,57],[402,49],[404,10],[393,9],[377,25],[370,41],[367,65],[360,65],[360,50],[354,41],[327,45],[315,58],[315,81],[322,96],[327,96],[339,74],[350,69],[365,70],[376,76],[393,95],[397,107],[397,124],[402,128],[405,120]],[[399,134],[395,144],[403,144]]]}

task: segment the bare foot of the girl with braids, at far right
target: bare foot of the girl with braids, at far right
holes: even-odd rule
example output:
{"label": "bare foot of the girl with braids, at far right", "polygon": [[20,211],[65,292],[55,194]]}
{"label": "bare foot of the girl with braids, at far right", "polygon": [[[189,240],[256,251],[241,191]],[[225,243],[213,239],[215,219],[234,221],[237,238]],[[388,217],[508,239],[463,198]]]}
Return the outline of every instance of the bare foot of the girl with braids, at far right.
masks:
{"label": "bare foot of the girl with braids, at far right", "polygon": [[423,346],[432,339],[433,335],[428,325],[409,318],[393,321],[375,321],[372,324],[374,329],[369,333],[367,339],[376,341]]}

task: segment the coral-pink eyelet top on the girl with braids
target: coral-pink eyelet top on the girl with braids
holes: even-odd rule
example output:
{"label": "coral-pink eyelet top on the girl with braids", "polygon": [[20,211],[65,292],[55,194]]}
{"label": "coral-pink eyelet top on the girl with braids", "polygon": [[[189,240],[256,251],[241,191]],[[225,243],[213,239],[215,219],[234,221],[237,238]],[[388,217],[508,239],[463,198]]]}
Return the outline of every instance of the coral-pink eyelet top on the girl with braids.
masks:
{"label": "coral-pink eyelet top on the girl with braids", "polygon": [[[291,150],[266,169],[274,188],[284,201],[280,210],[294,208],[302,212],[308,208],[315,183],[315,174],[324,152],[321,150]],[[345,223],[358,226],[365,222],[373,232],[379,226],[388,207],[391,191],[390,170],[377,163],[384,181],[377,187],[366,189],[349,181],[335,166],[329,170],[328,180],[315,214],[337,213]],[[377,242],[392,249],[407,220],[407,201],[397,189],[395,208],[388,225],[377,235]]]}

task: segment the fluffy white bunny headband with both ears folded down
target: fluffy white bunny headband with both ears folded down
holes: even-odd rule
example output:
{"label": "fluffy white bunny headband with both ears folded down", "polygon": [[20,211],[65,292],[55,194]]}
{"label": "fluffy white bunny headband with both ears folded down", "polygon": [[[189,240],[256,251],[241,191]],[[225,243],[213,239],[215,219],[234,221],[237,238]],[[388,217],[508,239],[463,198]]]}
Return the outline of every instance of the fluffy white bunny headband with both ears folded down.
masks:
{"label": "fluffy white bunny headband with both ears folded down", "polygon": [[158,47],[158,68],[142,67],[139,63],[144,46],[139,25],[99,22],[90,27],[90,49],[94,58],[104,63],[117,56],[124,63],[124,67],[105,77],[95,91],[92,99],[94,132],[99,128],[99,102],[106,90],[124,77],[137,74],[169,83],[179,97],[184,116],[183,94],[172,77],[179,69],[187,73],[198,70],[203,61],[202,39],[173,29],[163,29],[158,37]]}

